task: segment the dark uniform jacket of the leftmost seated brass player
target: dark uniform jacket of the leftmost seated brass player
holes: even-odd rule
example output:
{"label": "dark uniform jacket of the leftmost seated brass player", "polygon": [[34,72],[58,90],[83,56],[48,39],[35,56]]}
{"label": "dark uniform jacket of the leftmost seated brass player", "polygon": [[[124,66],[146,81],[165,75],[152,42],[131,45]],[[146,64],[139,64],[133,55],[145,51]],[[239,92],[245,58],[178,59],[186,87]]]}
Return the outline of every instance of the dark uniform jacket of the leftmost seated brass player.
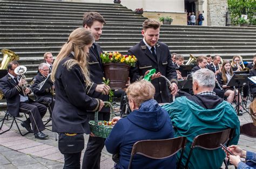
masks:
{"label": "dark uniform jacket of the leftmost seated brass player", "polygon": [[[19,116],[19,102],[23,95],[22,88],[11,78],[9,74],[0,79],[0,89],[3,91],[7,102],[7,108],[10,114],[14,117]],[[32,101],[32,100],[30,100]]]}

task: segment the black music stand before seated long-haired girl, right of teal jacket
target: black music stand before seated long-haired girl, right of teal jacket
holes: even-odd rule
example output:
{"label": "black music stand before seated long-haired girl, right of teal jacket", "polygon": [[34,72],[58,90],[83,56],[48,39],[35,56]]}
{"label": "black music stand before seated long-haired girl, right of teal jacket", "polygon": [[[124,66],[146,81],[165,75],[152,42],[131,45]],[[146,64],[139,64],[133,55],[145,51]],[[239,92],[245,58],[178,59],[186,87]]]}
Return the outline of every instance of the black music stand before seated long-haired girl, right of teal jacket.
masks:
{"label": "black music stand before seated long-haired girl, right of teal jacket", "polygon": [[[233,74],[232,78],[230,79],[230,81],[228,81],[227,86],[235,86],[238,87],[238,99],[237,99],[237,105],[235,107],[235,110],[237,111],[238,115],[241,115],[241,113],[239,112],[239,106],[241,105],[241,107],[247,112],[249,113],[246,108],[244,108],[244,106],[242,104],[240,104],[240,87],[242,84],[247,83],[248,81],[248,76],[249,74]],[[244,113],[242,113],[244,114]]]}

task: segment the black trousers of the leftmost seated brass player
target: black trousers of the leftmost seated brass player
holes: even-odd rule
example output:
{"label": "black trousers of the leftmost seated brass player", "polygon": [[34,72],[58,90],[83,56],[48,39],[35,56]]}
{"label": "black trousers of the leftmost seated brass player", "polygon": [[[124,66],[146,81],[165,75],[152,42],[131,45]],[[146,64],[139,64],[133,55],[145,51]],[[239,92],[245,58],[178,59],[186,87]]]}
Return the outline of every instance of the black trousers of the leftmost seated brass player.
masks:
{"label": "black trousers of the leftmost seated brass player", "polygon": [[45,105],[32,101],[29,101],[28,103],[21,102],[19,104],[19,110],[29,115],[29,118],[24,122],[27,124],[30,124],[31,122],[34,133],[45,129],[42,121],[42,118],[47,111]]}

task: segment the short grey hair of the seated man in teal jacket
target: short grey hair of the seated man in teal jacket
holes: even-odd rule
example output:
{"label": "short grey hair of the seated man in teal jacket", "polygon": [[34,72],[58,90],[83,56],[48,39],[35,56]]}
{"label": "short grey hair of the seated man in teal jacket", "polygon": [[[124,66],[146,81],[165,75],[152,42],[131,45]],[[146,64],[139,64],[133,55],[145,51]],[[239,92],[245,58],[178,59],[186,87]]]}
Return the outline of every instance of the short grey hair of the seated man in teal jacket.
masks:
{"label": "short grey hair of the seated man in teal jacket", "polygon": [[193,82],[197,81],[201,87],[215,87],[215,74],[209,69],[203,68],[192,74]]}

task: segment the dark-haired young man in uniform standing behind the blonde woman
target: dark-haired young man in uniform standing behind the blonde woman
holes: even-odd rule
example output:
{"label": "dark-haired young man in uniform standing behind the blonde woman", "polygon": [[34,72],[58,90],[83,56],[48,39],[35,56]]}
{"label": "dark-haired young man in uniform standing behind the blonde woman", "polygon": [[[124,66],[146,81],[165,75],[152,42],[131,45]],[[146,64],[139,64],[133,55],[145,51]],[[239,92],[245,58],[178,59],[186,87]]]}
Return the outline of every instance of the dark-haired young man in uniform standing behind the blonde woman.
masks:
{"label": "dark-haired young man in uniform standing behind the blonde woman", "polygon": [[[105,23],[105,19],[98,12],[84,13],[83,27],[92,32],[95,41],[99,40],[102,34],[103,25]],[[89,51],[90,79],[93,82],[93,85],[88,95],[94,98],[99,98],[103,101],[108,101],[110,87],[102,84],[104,78],[102,60],[100,59],[100,53],[102,52],[102,48],[100,48],[97,43],[93,43]],[[86,115],[89,117],[90,120],[94,120],[95,112],[91,112]],[[98,120],[109,121],[109,117],[109,107],[103,107],[98,114]],[[100,168],[100,156],[104,147],[104,141],[105,139],[102,137],[89,137],[87,147],[84,153],[82,168]]]}

